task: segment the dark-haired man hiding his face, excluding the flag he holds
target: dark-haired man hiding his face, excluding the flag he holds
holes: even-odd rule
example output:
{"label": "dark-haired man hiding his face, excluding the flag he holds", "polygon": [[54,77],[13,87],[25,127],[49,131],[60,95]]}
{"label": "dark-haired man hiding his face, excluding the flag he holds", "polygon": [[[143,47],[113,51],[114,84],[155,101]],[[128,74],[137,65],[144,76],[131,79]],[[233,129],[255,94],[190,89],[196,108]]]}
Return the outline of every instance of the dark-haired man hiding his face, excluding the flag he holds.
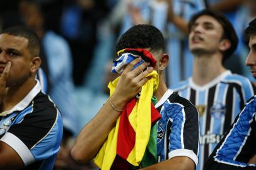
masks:
{"label": "dark-haired man hiding his face, excluding the flag he holds", "polygon": [[[199,117],[197,110],[187,99],[180,98],[177,93],[166,87],[164,70],[169,57],[164,53],[165,45],[161,31],[151,25],[132,26],[120,37],[116,52],[127,48],[139,48],[153,55],[156,60],[155,71],[159,75],[159,85],[154,91],[154,96],[158,98],[155,107],[161,115],[157,124],[157,141],[155,141],[158,160],[156,158],[156,164],[145,169],[194,169],[197,165],[199,146]],[[148,67],[149,63],[144,62],[133,69],[139,62],[141,58],[136,58],[130,64],[124,65],[124,71],[112,96],[79,133],[71,151],[76,161],[86,163],[96,156],[115,122],[119,121],[120,113],[126,107],[126,103],[134,99],[143,84],[150,79],[146,76],[153,72],[153,67]],[[115,152],[114,149],[112,151]],[[139,167],[141,165],[131,168]]]}

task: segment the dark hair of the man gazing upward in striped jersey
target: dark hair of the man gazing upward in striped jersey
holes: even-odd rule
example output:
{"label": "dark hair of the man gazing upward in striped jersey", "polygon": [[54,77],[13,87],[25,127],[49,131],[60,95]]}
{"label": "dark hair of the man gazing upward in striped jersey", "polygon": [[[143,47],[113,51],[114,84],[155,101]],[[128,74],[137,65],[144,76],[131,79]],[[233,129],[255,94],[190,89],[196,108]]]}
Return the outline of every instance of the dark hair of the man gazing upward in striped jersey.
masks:
{"label": "dark hair of the man gazing upward in striped jersey", "polygon": [[204,9],[204,10],[200,11],[199,13],[194,14],[192,16],[192,18],[190,18],[189,31],[191,31],[191,28],[194,25],[195,20],[197,20],[197,18],[199,18],[200,16],[203,16],[203,15],[211,16],[211,17],[215,18],[221,24],[221,26],[224,30],[222,39],[228,39],[228,40],[230,40],[230,43],[231,43],[231,47],[228,48],[228,50],[223,52],[223,60],[228,59],[228,57],[230,57],[230,55],[232,55],[233,52],[235,52],[237,44],[238,44],[238,37],[236,35],[235,29],[233,28],[233,26],[230,23],[230,21],[228,20],[228,18],[226,18],[226,16],[224,16],[224,14],[221,13],[220,11],[214,11],[212,9]]}

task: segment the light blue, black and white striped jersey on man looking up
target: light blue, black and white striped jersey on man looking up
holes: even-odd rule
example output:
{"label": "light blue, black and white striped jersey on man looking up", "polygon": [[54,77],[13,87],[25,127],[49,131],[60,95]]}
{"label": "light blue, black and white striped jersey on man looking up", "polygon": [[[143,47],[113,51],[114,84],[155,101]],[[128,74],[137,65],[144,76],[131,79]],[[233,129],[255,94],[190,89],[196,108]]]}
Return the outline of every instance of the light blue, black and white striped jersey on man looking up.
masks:
{"label": "light blue, black and white striped jersey on man looking up", "polygon": [[245,101],[253,96],[253,85],[246,77],[225,71],[204,86],[198,86],[189,78],[173,91],[189,99],[199,111],[201,145],[197,169],[202,169]]}

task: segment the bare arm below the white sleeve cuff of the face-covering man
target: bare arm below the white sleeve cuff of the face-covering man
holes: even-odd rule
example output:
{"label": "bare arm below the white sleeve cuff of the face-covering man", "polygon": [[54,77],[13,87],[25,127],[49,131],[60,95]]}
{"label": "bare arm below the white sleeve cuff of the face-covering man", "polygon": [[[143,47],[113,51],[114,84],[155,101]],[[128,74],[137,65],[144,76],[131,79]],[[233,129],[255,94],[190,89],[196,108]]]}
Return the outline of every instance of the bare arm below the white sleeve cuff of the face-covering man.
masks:
{"label": "bare arm below the white sleeve cuff of the face-covering man", "polygon": [[180,169],[180,170],[194,170],[195,164],[189,157],[172,157],[166,161],[160,162],[158,164],[154,164],[153,166],[149,166],[143,168],[142,170],[172,170],[172,169]]}

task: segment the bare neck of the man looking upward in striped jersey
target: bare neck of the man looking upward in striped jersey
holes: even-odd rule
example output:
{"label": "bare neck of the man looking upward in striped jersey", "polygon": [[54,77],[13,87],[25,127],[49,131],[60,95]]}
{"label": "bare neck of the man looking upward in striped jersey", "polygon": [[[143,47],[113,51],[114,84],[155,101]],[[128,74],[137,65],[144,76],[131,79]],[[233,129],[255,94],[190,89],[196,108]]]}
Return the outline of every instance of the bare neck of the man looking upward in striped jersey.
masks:
{"label": "bare neck of the man looking upward in striped jersey", "polygon": [[204,86],[226,71],[222,65],[221,54],[201,54],[194,57],[192,80],[199,86]]}

